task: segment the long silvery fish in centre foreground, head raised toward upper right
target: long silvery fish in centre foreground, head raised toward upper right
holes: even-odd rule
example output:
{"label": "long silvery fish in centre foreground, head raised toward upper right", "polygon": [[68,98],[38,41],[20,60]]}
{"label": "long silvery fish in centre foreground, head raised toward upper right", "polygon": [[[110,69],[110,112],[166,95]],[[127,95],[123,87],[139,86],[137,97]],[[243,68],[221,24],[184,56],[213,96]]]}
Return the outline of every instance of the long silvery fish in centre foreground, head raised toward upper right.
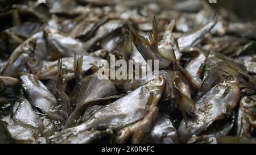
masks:
{"label": "long silvery fish in centre foreground, head raised toward upper right", "polygon": [[[164,85],[165,79],[163,77],[160,77],[159,81],[150,81],[147,85],[134,90],[133,93],[94,111],[80,125],[64,129],[57,135],[49,137],[49,141],[55,141],[55,139],[59,139],[58,137],[63,139],[67,137],[65,136],[67,134],[69,137],[73,137],[76,136],[76,133],[90,129],[100,131],[102,129],[118,129],[124,127],[125,124],[138,122],[144,118],[147,110],[155,107],[159,102]],[[127,110],[127,108],[130,108],[130,110]]]}

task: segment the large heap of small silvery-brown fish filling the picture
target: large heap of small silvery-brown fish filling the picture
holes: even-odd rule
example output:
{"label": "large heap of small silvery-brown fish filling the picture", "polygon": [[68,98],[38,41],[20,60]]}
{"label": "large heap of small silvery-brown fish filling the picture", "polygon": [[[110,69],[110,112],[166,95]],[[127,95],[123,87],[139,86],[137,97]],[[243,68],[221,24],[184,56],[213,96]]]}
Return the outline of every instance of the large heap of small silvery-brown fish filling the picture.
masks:
{"label": "large heap of small silvery-brown fish filling the picture", "polygon": [[[1,3],[0,143],[256,143],[255,21],[200,0]],[[110,56],[159,74],[100,79]]]}

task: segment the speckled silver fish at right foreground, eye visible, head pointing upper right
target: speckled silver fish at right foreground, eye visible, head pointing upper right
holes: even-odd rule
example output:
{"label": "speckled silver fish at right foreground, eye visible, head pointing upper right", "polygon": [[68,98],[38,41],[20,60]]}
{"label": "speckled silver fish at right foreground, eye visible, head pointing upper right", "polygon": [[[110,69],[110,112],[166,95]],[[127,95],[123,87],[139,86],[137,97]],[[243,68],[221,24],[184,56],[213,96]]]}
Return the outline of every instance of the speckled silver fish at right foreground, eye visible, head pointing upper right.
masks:
{"label": "speckled silver fish at right foreground, eye visible, head pointing upper right", "polygon": [[178,129],[179,135],[183,137],[183,140],[193,135],[200,135],[215,121],[230,115],[239,100],[239,81],[231,74],[197,100],[193,117],[188,119],[187,123],[184,121],[181,123]]}

